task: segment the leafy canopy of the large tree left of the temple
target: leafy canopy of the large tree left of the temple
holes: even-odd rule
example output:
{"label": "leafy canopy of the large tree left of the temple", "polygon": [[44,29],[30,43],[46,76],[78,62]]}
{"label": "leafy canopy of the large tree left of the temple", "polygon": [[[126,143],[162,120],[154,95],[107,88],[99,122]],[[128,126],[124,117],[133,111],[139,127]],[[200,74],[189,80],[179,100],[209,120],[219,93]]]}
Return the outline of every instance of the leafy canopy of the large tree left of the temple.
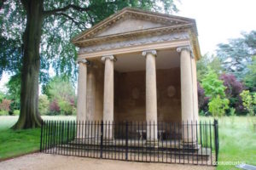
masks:
{"label": "leafy canopy of the large tree left of the temple", "polygon": [[[49,66],[57,75],[76,77],[77,51],[70,42],[81,31],[95,26],[125,7],[151,11],[177,12],[173,0],[44,0],[44,11],[68,7],[52,14],[44,14],[40,48],[40,82],[49,81]],[[26,10],[20,1],[9,0],[0,8],[0,77],[3,71],[17,73],[22,63],[22,33],[26,26]],[[45,12],[46,13],[46,12]]]}

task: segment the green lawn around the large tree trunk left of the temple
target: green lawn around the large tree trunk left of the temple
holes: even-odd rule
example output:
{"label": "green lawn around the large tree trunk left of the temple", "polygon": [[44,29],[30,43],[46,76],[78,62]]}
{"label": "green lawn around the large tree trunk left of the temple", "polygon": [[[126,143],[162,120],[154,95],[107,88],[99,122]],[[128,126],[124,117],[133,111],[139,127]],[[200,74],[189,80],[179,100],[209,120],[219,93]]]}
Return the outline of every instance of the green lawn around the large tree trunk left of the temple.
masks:
{"label": "green lawn around the large tree trunk left of the temple", "polygon": [[[74,116],[43,116],[44,120],[75,120]],[[12,130],[18,116],[0,116],[0,160],[39,150],[40,128]]]}

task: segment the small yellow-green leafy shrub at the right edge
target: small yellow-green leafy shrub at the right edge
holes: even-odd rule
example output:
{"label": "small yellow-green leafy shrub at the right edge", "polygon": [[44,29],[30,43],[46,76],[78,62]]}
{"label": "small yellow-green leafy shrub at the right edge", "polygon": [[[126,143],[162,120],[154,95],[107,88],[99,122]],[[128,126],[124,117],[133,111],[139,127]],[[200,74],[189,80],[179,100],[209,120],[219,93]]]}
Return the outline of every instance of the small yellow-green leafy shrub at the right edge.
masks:
{"label": "small yellow-green leafy shrub at the right edge", "polygon": [[256,93],[251,95],[248,90],[243,90],[240,95],[242,99],[242,105],[247,109],[248,114],[250,116],[254,116],[253,105],[256,105],[255,103]]}

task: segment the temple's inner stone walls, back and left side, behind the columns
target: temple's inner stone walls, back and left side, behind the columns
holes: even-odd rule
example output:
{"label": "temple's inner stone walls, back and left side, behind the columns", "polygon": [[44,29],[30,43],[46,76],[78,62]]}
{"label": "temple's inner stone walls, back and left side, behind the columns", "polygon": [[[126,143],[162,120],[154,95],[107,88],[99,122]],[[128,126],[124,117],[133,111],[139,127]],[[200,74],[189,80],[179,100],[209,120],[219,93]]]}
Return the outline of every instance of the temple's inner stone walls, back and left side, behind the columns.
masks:
{"label": "temple's inner stone walls, back and left side, behind the columns", "polygon": [[[94,61],[88,68],[95,77],[95,99],[87,101],[87,120],[102,120],[104,65]],[[114,121],[145,121],[145,71],[120,73],[114,72]],[[181,121],[180,69],[157,70],[157,106],[158,121]],[[87,86],[90,87],[90,86]],[[87,89],[87,92],[91,89]],[[89,94],[89,93],[87,93]],[[91,97],[87,96],[87,99]],[[89,111],[90,110],[90,111]],[[94,113],[93,113],[94,112]]]}

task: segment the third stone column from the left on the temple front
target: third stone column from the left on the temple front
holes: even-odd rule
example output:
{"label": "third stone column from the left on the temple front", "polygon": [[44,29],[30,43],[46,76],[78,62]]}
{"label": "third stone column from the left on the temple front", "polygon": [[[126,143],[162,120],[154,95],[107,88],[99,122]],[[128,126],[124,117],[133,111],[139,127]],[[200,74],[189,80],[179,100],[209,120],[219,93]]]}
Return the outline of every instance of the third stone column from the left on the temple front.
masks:
{"label": "third stone column from the left on the temple front", "polygon": [[146,57],[146,121],[147,143],[157,142],[157,89],[156,89],[156,70],[155,58],[156,51],[143,51]]}

